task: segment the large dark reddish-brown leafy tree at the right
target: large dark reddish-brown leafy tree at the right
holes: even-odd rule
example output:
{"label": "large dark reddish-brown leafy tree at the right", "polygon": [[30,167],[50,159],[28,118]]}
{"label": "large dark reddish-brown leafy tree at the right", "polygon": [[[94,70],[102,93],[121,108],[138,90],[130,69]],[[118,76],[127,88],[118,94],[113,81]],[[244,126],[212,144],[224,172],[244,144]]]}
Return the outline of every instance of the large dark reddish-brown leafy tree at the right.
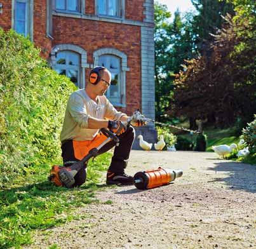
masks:
{"label": "large dark reddish-brown leafy tree at the right", "polygon": [[178,75],[175,114],[213,117],[225,126],[255,112],[255,18],[227,16],[226,22],[211,44],[210,57],[188,60]]}

